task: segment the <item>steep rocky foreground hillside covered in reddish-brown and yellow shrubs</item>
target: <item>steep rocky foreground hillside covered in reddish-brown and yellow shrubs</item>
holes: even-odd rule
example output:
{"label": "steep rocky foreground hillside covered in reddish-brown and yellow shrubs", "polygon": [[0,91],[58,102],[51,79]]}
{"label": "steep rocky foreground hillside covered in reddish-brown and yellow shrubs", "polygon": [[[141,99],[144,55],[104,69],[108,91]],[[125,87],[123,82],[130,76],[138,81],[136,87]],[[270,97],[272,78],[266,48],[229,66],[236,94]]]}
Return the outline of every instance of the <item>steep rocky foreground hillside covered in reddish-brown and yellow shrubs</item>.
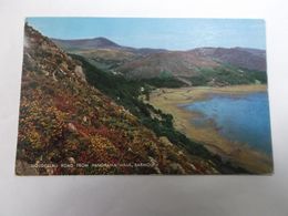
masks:
{"label": "steep rocky foreground hillside covered in reddish-brown and yellow shrubs", "polygon": [[219,173],[89,85],[51,40],[29,25],[24,39],[18,175]]}

